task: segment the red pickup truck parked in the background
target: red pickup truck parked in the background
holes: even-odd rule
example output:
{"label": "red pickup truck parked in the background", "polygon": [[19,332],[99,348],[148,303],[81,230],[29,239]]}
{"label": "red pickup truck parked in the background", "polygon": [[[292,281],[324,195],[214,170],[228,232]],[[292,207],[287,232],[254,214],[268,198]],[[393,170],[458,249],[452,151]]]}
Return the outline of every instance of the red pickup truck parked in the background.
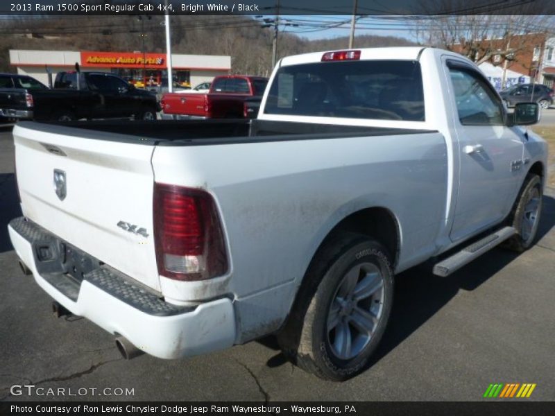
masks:
{"label": "red pickup truck parked in the background", "polygon": [[[207,93],[167,93],[160,100],[165,118],[241,119],[253,118],[262,100],[268,78],[242,75],[217,76]],[[249,104],[246,104],[249,101]],[[250,108],[248,112],[246,108]],[[251,116],[253,115],[253,116]],[[169,117],[168,117],[169,116]]]}

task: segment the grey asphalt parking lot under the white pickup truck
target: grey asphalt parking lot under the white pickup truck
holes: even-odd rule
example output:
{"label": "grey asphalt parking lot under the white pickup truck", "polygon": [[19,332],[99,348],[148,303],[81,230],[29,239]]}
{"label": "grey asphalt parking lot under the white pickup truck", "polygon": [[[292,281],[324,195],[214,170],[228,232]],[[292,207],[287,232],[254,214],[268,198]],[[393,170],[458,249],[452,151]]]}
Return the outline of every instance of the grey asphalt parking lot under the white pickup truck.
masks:
{"label": "grey asphalt parking lot under the white pickup truck", "polygon": [[[398,276],[373,365],[330,383],[285,362],[273,338],[188,360],[123,361],[91,322],[53,318],[51,299],[22,275],[8,239],[7,223],[20,215],[13,171],[8,127],[0,130],[0,400],[474,401],[490,383],[536,383],[529,400],[555,400],[555,189],[531,250],[496,249],[448,278],[422,269]],[[98,390],[10,394],[24,384]],[[134,394],[98,396],[104,388]]]}

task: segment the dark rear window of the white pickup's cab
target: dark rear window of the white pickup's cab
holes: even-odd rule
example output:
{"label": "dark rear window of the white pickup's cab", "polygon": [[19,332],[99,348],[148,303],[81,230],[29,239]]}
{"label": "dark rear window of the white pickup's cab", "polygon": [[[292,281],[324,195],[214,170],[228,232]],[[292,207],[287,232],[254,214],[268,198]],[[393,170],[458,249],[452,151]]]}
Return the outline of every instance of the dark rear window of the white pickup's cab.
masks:
{"label": "dark rear window of the white pickup's cab", "polygon": [[266,114],[424,121],[416,61],[318,62],[281,67]]}

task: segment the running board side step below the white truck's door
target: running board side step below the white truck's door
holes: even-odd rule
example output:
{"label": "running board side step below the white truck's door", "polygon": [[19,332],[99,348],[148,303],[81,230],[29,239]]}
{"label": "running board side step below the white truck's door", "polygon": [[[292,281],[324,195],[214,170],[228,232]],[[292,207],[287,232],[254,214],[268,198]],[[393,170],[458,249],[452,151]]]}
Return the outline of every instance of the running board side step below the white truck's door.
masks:
{"label": "running board side step below the white truck's door", "polygon": [[506,239],[510,239],[516,234],[516,229],[513,227],[504,227],[498,231],[485,236],[483,239],[472,243],[468,247],[463,248],[461,251],[456,252],[451,257],[440,261],[434,266],[434,275],[447,277],[452,272],[459,270],[459,268],[470,263],[470,261],[480,257],[485,252],[488,252],[496,245],[501,244]]}

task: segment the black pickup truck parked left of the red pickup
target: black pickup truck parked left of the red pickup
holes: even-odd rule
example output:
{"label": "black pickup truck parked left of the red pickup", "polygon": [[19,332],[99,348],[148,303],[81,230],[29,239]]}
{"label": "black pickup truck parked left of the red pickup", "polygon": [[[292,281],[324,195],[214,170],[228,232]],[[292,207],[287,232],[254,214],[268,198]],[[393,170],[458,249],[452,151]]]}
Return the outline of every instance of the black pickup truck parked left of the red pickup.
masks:
{"label": "black pickup truck parked left of the red pickup", "polygon": [[135,116],[155,120],[158,110],[155,94],[103,72],[60,72],[53,89],[16,87],[0,91],[0,115],[16,119],[70,121]]}

